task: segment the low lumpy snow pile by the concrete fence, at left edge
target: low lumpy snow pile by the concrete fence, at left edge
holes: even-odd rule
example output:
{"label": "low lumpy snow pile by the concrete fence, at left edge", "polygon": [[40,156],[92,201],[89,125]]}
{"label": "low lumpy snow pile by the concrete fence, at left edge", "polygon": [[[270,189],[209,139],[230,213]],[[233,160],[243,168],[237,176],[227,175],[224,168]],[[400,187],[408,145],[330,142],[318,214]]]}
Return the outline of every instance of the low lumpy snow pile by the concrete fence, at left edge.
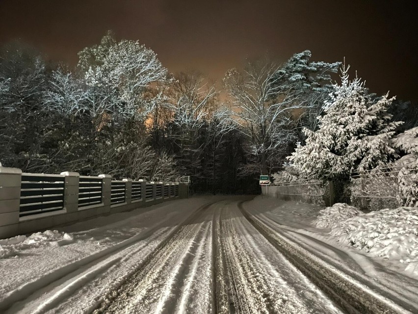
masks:
{"label": "low lumpy snow pile by the concrete fence, at left edge", "polygon": [[16,256],[20,251],[44,246],[62,246],[74,242],[71,234],[46,230],[36,232],[28,237],[18,235],[13,238],[0,240],[0,258]]}

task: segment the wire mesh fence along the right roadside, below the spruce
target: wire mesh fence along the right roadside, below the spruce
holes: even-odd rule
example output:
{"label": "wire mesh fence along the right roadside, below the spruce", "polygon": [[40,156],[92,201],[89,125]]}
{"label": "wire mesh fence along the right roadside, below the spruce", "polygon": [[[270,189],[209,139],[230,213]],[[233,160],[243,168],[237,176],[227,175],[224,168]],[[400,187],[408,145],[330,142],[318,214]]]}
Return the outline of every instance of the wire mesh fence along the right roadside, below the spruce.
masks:
{"label": "wire mesh fence along the right roadside, below the spruce", "polygon": [[339,180],[298,180],[265,190],[282,200],[331,206],[344,202],[364,211],[418,206],[418,169],[405,166],[365,171]]}

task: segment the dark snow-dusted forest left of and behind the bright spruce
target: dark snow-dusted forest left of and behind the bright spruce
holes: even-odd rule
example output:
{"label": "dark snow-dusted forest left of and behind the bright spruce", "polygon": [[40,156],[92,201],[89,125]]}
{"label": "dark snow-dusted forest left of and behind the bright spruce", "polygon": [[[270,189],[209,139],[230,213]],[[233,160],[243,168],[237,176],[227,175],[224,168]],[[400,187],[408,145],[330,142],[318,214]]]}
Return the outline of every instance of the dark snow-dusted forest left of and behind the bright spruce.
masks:
{"label": "dark snow-dusted forest left of and behind the bright spruce", "polygon": [[153,51],[110,32],[78,57],[71,69],[22,43],[1,47],[3,166],[190,175],[195,192],[257,193],[258,175],[280,170],[304,141],[301,128],[317,128],[340,65],[310,61],[309,51],[281,65],[260,58],[229,70],[220,89],[198,72],[169,73]]}

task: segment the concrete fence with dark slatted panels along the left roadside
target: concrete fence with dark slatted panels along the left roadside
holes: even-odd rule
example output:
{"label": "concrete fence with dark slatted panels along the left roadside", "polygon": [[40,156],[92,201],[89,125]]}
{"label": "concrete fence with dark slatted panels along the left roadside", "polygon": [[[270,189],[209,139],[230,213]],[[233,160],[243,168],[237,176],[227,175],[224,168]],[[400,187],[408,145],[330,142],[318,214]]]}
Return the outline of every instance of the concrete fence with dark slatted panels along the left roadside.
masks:
{"label": "concrete fence with dark slatted panels along the left roadside", "polygon": [[187,183],[22,173],[0,164],[0,238],[187,197]]}

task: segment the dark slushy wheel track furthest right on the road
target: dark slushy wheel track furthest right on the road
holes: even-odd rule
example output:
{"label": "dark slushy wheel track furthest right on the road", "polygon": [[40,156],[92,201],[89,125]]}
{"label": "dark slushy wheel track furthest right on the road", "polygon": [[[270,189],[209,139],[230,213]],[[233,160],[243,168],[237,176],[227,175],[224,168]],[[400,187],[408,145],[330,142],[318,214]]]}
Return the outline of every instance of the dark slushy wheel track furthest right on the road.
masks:
{"label": "dark slushy wheel track furthest right on the road", "polygon": [[[321,264],[308,252],[289,244],[285,238],[267,227],[256,217],[250,215],[238,203],[242,215],[293,265],[295,265],[313,284],[328,295],[344,312],[356,314],[395,314],[409,313],[389,300],[356,285],[354,280],[341,276],[335,269]],[[387,302],[385,302],[387,301]]]}

